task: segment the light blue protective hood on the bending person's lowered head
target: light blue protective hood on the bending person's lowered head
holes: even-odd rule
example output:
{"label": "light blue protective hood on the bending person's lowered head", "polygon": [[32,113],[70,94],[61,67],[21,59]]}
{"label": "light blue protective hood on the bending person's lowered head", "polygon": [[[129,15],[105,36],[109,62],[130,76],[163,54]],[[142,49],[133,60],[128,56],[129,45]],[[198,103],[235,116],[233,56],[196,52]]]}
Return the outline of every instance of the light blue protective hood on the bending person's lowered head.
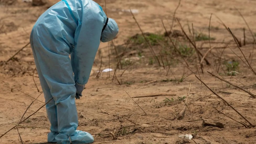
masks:
{"label": "light blue protective hood on the bending person's lowered head", "polygon": [[118,30],[119,30],[119,28],[118,28],[118,25],[115,22],[115,20],[109,18],[107,26],[101,34],[100,40],[102,42],[108,42],[108,41],[113,40],[116,37],[116,35],[118,34]]}

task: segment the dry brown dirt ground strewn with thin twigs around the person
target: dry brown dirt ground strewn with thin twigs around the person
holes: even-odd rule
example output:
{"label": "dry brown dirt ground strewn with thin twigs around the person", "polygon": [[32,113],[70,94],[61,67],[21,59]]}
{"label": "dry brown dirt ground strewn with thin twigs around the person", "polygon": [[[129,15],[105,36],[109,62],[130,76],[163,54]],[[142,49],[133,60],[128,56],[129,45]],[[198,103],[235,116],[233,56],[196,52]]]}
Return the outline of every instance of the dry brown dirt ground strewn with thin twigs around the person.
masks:
{"label": "dry brown dirt ground strewn with thin twigs around the person", "polygon": [[[56,3],[50,0],[44,6],[32,6],[30,2],[21,0],[4,1],[0,0],[0,135],[8,131],[20,121],[26,108],[41,92],[40,82],[37,73],[34,80],[39,87],[39,92],[33,81],[35,63],[30,45],[20,51],[12,60],[5,63],[19,49],[29,42],[30,31],[37,20],[47,8]],[[120,32],[114,39],[115,45],[122,45],[127,39],[137,33],[140,29],[132,18],[129,9],[135,14],[136,20],[144,32],[164,33],[161,22],[163,20],[167,29],[172,24],[173,12],[177,7],[178,0],[106,0],[106,7],[103,0],[97,0],[103,6],[108,17],[114,18],[119,25]],[[256,32],[256,1],[253,0],[182,0],[176,16],[188,32],[188,26],[208,35],[209,19],[211,13],[211,36],[216,39],[212,52],[222,60],[239,61],[239,74],[227,76],[225,65],[221,63],[219,74],[226,80],[241,86],[242,88],[256,93],[256,76],[230,49],[225,49],[223,55],[223,41],[229,43],[232,36],[219,22],[217,15],[233,33],[243,42],[243,28],[246,28],[246,43],[242,46],[245,56],[252,57],[253,38],[240,17],[236,8],[240,10],[252,31]],[[173,29],[180,30],[177,22]],[[185,38],[184,38],[185,39]],[[214,43],[220,42],[220,43]],[[220,110],[237,121],[246,121],[239,116],[227,104],[218,99],[207,89],[196,77],[199,65],[189,61],[189,67],[185,67],[186,77],[182,82],[172,81],[183,75],[183,61],[171,65],[168,76],[168,68],[159,67],[156,64],[147,65],[136,63],[128,67],[122,76],[125,68],[118,69],[117,79],[112,81],[114,72],[100,73],[96,78],[100,67],[100,57],[103,57],[102,69],[108,68],[108,44],[101,43],[99,52],[95,59],[95,65],[91,73],[83,97],[76,100],[79,116],[79,130],[90,132],[95,143],[136,143],[136,144],[172,144],[172,143],[201,143],[201,144],[246,144],[256,143],[256,128],[245,128],[242,124],[235,122],[213,108]],[[208,41],[199,41],[198,46],[209,47]],[[229,43],[231,49],[242,57],[234,41]],[[116,66],[116,55],[111,46],[110,68]],[[200,49],[205,54],[208,49]],[[210,54],[209,54],[210,55]],[[129,55],[126,55],[129,57]],[[206,57],[210,62],[212,58]],[[249,60],[250,60],[249,58]],[[252,68],[256,69],[255,57],[252,59]],[[212,66],[204,64],[204,73],[200,71],[200,78],[217,94],[227,100],[252,125],[256,125],[256,99],[248,93],[237,89],[229,84],[211,76],[206,71],[212,71]],[[216,67],[216,66],[215,66]],[[119,84],[120,83],[120,84]],[[191,91],[187,97],[189,85]],[[147,114],[126,94],[131,97],[146,95],[160,95],[155,97],[134,98]],[[162,96],[161,96],[162,94]],[[33,98],[31,98],[33,97]],[[185,98],[186,97],[186,98]],[[168,98],[168,99],[167,99]],[[185,99],[184,99],[185,98]],[[39,96],[26,112],[24,118],[33,114],[44,105],[43,94]],[[183,120],[178,120],[178,113],[186,107]],[[125,117],[125,118],[124,118]],[[202,121],[212,121],[214,124],[220,122],[224,128],[215,126],[202,126]],[[248,123],[246,123],[249,125]],[[36,114],[20,124],[19,132],[24,143],[47,142],[47,133],[50,123],[47,119],[45,108],[40,109]],[[191,134],[193,140],[183,140],[179,135]],[[17,129],[13,129],[0,138],[0,143],[21,143]]]}

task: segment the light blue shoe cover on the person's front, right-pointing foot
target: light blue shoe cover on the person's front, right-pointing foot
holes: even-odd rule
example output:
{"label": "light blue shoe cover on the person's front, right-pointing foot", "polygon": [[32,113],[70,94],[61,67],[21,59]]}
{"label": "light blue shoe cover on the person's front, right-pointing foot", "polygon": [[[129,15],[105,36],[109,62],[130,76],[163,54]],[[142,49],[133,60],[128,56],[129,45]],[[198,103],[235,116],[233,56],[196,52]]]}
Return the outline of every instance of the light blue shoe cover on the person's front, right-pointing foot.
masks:
{"label": "light blue shoe cover on the person's front, right-pointing foot", "polygon": [[72,144],[88,144],[93,143],[94,138],[91,134],[85,131],[76,130],[77,134],[70,136]]}

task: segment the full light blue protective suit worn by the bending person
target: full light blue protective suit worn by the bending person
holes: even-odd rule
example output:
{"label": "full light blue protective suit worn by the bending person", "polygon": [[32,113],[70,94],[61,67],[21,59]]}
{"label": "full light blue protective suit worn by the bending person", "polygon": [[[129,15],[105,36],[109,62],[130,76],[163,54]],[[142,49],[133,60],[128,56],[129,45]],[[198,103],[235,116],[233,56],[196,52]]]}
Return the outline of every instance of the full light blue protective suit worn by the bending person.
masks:
{"label": "full light blue protective suit worn by the bending person", "polygon": [[[78,131],[75,83],[86,84],[100,40],[115,38],[113,19],[102,33],[106,14],[92,0],[62,0],[35,23],[30,43],[51,123],[48,142],[92,143],[92,135]],[[69,56],[71,55],[71,59]]]}

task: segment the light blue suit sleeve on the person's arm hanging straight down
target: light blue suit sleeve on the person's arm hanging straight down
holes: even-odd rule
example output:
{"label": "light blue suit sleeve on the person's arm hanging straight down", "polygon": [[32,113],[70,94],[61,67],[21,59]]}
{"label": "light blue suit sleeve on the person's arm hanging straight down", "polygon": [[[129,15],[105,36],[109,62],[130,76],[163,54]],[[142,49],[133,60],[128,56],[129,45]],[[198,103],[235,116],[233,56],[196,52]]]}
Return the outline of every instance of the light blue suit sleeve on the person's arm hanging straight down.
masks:
{"label": "light blue suit sleeve on the person's arm hanging straight down", "polygon": [[75,82],[86,84],[92,70],[95,55],[97,53],[105,13],[99,9],[84,9],[82,20],[79,22],[74,36],[75,46],[71,54],[72,68]]}

